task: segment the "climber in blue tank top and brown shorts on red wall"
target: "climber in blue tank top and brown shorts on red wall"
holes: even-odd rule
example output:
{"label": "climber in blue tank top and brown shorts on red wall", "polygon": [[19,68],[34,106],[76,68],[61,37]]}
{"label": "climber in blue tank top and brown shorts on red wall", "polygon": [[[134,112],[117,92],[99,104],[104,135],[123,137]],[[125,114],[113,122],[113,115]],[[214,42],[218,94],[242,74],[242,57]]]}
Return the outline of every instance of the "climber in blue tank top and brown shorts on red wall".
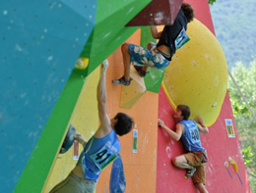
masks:
{"label": "climber in blue tank top and brown shorts on red wall", "polygon": [[189,116],[189,107],[178,105],[173,116],[178,121],[175,131],[168,128],[160,119],[159,125],[176,141],[181,139],[186,150],[185,154],[173,158],[172,164],[179,169],[187,169],[186,177],[192,177],[193,183],[200,193],[207,193],[205,163],[208,162],[208,158],[206,149],[201,145],[199,131],[208,133],[209,129],[202,118],[198,118],[198,123],[196,123],[188,120]]}

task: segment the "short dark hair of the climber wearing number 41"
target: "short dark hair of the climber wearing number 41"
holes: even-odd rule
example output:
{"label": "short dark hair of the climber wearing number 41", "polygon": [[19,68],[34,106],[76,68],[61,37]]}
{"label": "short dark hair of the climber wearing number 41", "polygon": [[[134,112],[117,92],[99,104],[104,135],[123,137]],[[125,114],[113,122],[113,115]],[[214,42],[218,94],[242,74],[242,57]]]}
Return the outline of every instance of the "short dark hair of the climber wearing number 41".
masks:
{"label": "short dark hair of the climber wearing number 41", "polygon": [[118,113],[114,117],[114,120],[117,120],[117,122],[114,124],[114,130],[119,136],[127,134],[131,131],[134,121],[127,114]]}

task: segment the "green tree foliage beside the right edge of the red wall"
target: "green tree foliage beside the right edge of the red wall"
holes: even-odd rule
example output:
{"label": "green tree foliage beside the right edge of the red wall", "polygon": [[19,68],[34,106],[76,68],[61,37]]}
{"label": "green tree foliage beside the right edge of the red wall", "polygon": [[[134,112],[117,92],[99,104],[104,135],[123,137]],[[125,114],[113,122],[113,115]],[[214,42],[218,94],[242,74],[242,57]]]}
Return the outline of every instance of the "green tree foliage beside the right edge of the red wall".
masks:
{"label": "green tree foliage beside the right edge of the red wall", "polygon": [[228,93],[241,141],[243,159],[249,175],[251,190],[256,192],[256,59],[250,63],[250,67],[247,69],[241,62],[236,63],[231,74],[249,104],[247,107],[229,78]]}

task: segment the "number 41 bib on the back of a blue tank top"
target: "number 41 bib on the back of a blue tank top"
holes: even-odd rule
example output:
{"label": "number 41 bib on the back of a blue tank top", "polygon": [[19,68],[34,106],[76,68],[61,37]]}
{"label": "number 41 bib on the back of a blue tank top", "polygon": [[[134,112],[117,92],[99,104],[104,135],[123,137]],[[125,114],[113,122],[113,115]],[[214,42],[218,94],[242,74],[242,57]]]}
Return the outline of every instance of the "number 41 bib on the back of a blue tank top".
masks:
{"label": "number 41 bib on the back of a blue tank top", "polygon": [[111,162],[117,158],[117,154],[112,150],[110,141],[108,141],[99,151],[91,155],[90,158],[100,170],[106,168]]}

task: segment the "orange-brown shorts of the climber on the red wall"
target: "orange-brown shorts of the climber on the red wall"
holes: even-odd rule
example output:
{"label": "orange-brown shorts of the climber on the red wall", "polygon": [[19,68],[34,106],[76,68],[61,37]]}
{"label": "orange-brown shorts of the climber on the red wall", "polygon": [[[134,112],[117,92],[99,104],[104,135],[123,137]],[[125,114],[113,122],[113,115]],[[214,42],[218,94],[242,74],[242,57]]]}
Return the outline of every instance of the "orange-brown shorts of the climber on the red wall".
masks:
{"label": "orange-brown shorts of the climber on the red wall", "polygon": [[194,184],[203,183],[206,184],[206,172],[205,172],[205,164],[202,163],[203,160],[202,152],[189,152],[187,154],[183,154],[188,164],[192,167],[196,168],[194,175],[192,176],[192,180]]}

